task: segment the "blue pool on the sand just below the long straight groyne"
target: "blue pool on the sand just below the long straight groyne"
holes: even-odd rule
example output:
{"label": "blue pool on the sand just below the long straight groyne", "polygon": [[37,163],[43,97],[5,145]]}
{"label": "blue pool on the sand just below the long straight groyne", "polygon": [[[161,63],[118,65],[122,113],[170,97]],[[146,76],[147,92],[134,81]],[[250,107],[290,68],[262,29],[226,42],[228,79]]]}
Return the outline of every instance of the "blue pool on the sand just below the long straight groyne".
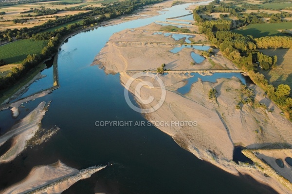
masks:
{"label": "blue pool on the sand just below the long straight groyne", "polygon": [[191,86],[193,83],[197,82],[199,78],[202,81],[210,81],[210,82],[217,82],[219,78],[232,78],[237,77],[243,84],[246,84],[247,77],[243,76],[241,73],[214,73],[212,76],[209,75],[201,75],[199,73],[191,73],[193,77],[184,80],[186,82],[183,87],[179,88],[177,91],[181,94],[186,94],[190,91]]}

